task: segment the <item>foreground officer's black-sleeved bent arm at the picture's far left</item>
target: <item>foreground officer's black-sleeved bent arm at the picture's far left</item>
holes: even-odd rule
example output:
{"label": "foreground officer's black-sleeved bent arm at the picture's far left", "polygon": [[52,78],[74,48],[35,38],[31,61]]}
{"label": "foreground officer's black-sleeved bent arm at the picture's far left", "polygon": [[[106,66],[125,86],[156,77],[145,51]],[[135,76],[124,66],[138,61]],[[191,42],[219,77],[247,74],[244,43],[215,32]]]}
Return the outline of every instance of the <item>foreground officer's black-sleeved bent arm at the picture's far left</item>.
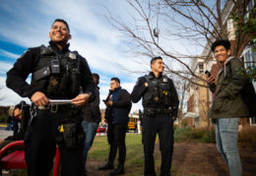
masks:
{"label": "foreground officer's black-sleeved bent arm at the picture's far left", "polygon": [[39,47],[28,49],[17,60],[13,68],[7,72],[6,86],[13,89],[22,97],[31,98],[32,94],[37,91],[37,89],[29,85],[26,80],[33,71],[39,51]]}

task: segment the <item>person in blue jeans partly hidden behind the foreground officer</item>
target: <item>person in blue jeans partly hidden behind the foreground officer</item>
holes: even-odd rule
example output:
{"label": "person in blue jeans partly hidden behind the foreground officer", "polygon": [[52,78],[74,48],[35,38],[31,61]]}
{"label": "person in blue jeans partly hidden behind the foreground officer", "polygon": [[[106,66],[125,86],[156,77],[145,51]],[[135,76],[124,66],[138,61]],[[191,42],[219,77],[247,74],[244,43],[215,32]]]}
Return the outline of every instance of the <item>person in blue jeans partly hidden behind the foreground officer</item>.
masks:
{"label": "person in blue jeans partly hidden behind the foreground officer", "polygon": [[[96,73],[93,73],[93,79],[96,86],[99,84],[99,76]],[[96,87],[96,98],[94,101],[83,106],[83,122],[82,126],[84,128],[84,132],[86,135],[85,143],[84,143],[84,151],[83,151],[83,167],[84,167],[84,175],[87,175],[86,171],[86,162],[87,155],[89,149],[92,147],[95,136],[96,129],[98,127],[98,123],[101,120],[100,110],[99,110],[99,88]]]}

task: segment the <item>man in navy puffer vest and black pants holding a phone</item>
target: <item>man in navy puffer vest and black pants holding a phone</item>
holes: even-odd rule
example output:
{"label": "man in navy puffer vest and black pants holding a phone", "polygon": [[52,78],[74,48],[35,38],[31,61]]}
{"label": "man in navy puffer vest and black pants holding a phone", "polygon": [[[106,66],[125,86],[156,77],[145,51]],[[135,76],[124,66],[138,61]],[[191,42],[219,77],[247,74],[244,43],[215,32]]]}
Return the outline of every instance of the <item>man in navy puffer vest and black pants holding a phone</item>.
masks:
{"label": "man in navy puffer vest and black pants holding a phone", "polygon": [[124,162],[126,156],[125,135],[129,121],[129,113],[132,107],[130,93],[120,87],[120,80],[112,78],[110,91],[106,98],[107,106],[105,117],[107,119],[107,140],[110,145],[108,161],[99,170],[113,169],[113,163],[118,148],[118,167],[110,172],[110,175],[124,174]]}

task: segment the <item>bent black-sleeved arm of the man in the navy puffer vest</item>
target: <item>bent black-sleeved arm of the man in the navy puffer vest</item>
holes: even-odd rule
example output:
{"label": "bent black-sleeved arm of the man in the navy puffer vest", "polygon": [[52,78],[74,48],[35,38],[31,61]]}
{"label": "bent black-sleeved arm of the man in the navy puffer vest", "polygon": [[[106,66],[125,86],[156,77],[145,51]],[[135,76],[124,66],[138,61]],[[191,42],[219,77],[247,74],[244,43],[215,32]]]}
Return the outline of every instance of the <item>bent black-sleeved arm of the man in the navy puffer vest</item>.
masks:
{"label": "bent black-sleeved arm of the man in the navy puffer vest", "polygon": [[117,101],[113,101],[113,107],[127,107],[131,105],[130,93],[126,89],[120,90]]}

